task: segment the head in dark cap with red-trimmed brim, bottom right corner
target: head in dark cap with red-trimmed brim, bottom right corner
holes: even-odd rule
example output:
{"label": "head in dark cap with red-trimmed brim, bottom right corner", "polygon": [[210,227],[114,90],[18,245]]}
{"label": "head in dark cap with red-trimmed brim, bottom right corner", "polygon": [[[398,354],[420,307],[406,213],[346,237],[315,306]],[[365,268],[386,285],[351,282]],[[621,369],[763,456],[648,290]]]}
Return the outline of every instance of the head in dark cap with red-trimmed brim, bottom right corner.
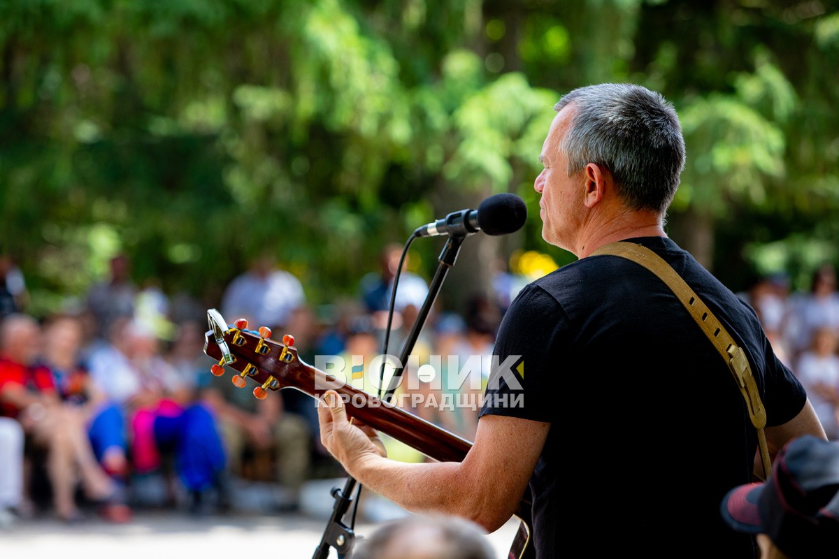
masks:
{"label": "head in dark cap with red-trimmed brim, bottom right corner", "polygon": [[721,511],[734,530],[757,536],[763,559],[839,556],[839,443],[793,439],[769,479],[735,487]]}

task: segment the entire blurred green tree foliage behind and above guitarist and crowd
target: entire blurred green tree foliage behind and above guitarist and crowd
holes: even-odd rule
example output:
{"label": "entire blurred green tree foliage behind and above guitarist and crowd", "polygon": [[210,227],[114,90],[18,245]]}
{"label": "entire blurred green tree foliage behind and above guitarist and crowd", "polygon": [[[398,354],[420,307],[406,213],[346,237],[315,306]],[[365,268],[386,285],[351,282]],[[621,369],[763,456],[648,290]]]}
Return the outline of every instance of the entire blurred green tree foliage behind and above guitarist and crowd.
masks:
{"label": "entire blurred green tree foliage behind and above guitarist and crowd", "polygon": [[[209,305],[268,249],[329,303],[455,201],[513,191],[535,209],[560,92],[606,80],[680,111],[672,221],[762,223],[752,262],[788,236],[823,246],[839,210],[833,4],[7,0],[2,250],[39,313],[117,251],[138,282]],[[520,248],[569,261],[538,221]],[[417,248],[420,272],[436,250]]]}

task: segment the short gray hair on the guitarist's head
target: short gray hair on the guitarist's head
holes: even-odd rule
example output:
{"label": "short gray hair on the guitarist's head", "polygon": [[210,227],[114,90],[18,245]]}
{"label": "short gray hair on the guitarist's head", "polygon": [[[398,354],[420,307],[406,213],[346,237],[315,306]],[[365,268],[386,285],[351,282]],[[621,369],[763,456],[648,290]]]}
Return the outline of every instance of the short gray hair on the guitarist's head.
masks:
{"label": "short gray hair on the guitarist's head", "polygon": [[567,93],[554,109],[569,105],[574,117],[560,145],[569,176],[596,163],[612,173],[629,208],[664,213],[685,168],[685,139],[672,103],[641,85],[600,84]]}

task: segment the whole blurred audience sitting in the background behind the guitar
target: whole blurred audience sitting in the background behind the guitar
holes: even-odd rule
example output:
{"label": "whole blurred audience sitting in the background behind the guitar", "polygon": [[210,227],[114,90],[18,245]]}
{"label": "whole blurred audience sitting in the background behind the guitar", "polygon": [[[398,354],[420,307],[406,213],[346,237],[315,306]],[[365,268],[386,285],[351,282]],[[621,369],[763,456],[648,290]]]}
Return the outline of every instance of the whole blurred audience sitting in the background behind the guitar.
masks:
{"label": "whole blurred audience sitting in the background behind the guitar", "polygon": [[[275,339],[293,334],[311,365],[342,356],[347,371],[369,368],[383,352],[391,303],[388,353],[399,355],[428,292],[425,279],[404,267],[393,297],[401,248],[386,247],[357,298],[331,307],[328,318],[270,255],[233,278],[217,308],[228,323],[245,318]],[[413,382],[400,387],[419,397],[403,406],[472,440],[495,333],[523,284],[498,272],[491,292],[466,297],[461,313],[430,313],[414,344],[417,360],[404,371]],[[828,437],[839,440],[835,269],[819,268],[809,291],[793,292],[776,275],[740,296],[805,385]],[[127,256],[114,256],[109,276],[74,308],[36,317],[28,303],[24,274],[0,258],[0,527],[50,514],[70,523],[91,514],[127,522],[149,506],[149,479],[165,488],[152,505],[185,513],[235,510],[232,487],[242,479],[272,484],[274,510],[294,510],[307,480],[343,475],[320,445],[315,400],[293,390],[258,400],[233,375],[211,375],[206,308],[170,298],[154,282],[137,285]],[[429,362],[435,366],[423,375],[416,364]],[[425,459],[384,438],[392,456]]]}

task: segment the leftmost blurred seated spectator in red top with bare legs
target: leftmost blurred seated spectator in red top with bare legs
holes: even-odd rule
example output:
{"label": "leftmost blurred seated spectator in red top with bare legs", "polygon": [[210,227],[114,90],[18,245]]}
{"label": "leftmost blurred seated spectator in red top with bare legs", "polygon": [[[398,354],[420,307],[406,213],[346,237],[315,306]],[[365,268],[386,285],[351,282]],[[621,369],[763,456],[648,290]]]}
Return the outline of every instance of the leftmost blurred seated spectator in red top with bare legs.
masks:
{"label": "leftmost blurred seated spectator in red top with bare legs", "polygon": [[96,462],[85,430],[85,419],[75,406],[61,402],[55,392],[31,388],[30,366],[40,350],[37,321],[23,314],[12,314],[0,326],[0,415],[14,417],[23,426],[29,441],[47,453],[55,512],[60,519],[81,520],[76,505],[76,483],[88,499],[108,505],[103,510],[109,520],[127,520],[122,507],[110,502],[117,494],[113,480]]}

